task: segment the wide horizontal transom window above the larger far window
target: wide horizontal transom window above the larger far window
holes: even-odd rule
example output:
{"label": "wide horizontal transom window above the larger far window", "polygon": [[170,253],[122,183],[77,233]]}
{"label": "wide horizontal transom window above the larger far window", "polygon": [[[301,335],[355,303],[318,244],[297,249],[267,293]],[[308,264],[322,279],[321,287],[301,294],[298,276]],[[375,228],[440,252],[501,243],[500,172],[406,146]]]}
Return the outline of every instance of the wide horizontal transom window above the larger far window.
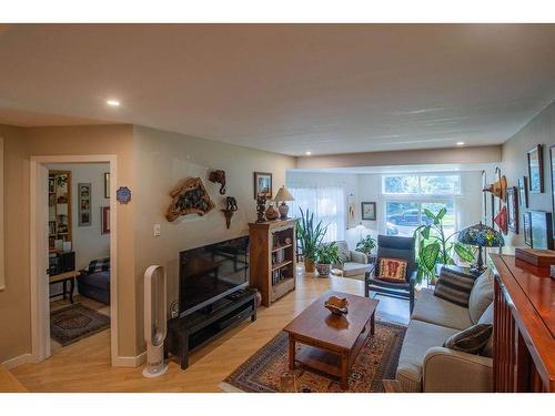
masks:
{"label": "wide horizontal transom window above the larger far window", "polygon": [[383,176],[383,193],[400,195],[458,195],[460,175],[395,175]]}

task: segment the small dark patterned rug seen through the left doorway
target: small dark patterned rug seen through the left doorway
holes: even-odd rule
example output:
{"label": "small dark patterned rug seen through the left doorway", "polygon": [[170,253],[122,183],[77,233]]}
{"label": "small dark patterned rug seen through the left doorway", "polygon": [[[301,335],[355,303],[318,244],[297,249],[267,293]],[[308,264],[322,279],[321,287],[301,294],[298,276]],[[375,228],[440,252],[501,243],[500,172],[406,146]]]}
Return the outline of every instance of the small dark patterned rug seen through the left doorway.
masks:
{"label": "small dark patterned rug seen through the left doorway", "polygon": [[110,327],[110,317],[74,304],[50,313],[50,336],[62,346]]}

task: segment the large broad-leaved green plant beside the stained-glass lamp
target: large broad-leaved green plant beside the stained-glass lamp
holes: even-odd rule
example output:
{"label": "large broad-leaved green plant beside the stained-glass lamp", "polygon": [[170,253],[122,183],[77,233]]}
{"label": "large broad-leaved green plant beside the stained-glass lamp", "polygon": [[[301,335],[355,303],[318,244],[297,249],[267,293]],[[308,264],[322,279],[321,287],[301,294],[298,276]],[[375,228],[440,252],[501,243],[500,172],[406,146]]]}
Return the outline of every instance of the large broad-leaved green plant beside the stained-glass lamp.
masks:
{"label": "large broad-leaved green plant beside the stained-glass lamp", "polygon": [[421,225],[414,230],[414,237],[418,244],[416,258],[418,265],[416,281],[418,283],[424,278],[435,278],[437,264],[455,264],[453,258],[455,253],[465,262],[474,262],[474,252],[471,247],[451,241],[457,233],[445,235],[443,219],[446,213],[446,207],[442,207],[437,214],[424,210],[424,214],[431,220],[430,224]]}

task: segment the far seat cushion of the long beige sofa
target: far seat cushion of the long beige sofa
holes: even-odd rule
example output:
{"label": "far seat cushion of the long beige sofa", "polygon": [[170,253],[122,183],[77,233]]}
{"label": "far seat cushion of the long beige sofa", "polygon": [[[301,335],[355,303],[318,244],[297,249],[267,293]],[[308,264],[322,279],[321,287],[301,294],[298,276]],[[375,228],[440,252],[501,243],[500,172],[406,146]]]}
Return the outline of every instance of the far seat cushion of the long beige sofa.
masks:
{"label": "far seat cushion of the long beige sofa", "polygon": [[473,325],[466,307],[434,296],[434,292],[427,288],[420,291],[411,318],[458,331]]}

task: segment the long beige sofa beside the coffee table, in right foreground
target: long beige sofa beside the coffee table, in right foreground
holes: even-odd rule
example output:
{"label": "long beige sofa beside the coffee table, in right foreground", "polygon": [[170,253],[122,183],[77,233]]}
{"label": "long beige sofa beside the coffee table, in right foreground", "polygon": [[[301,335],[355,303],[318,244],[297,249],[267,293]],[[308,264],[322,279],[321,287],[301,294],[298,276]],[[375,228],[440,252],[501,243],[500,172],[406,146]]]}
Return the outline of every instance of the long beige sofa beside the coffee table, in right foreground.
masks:
{"label": "long beige sofa beside the coffee table, in right foreground", "polygon": [[403,392],[492,392],[491,357],[442,346],[462,329],[477,323],[493,323],[492,302],[491,272],[474,283],[468,308],[436,297],[431,290],[418,293],[396,373]]}

